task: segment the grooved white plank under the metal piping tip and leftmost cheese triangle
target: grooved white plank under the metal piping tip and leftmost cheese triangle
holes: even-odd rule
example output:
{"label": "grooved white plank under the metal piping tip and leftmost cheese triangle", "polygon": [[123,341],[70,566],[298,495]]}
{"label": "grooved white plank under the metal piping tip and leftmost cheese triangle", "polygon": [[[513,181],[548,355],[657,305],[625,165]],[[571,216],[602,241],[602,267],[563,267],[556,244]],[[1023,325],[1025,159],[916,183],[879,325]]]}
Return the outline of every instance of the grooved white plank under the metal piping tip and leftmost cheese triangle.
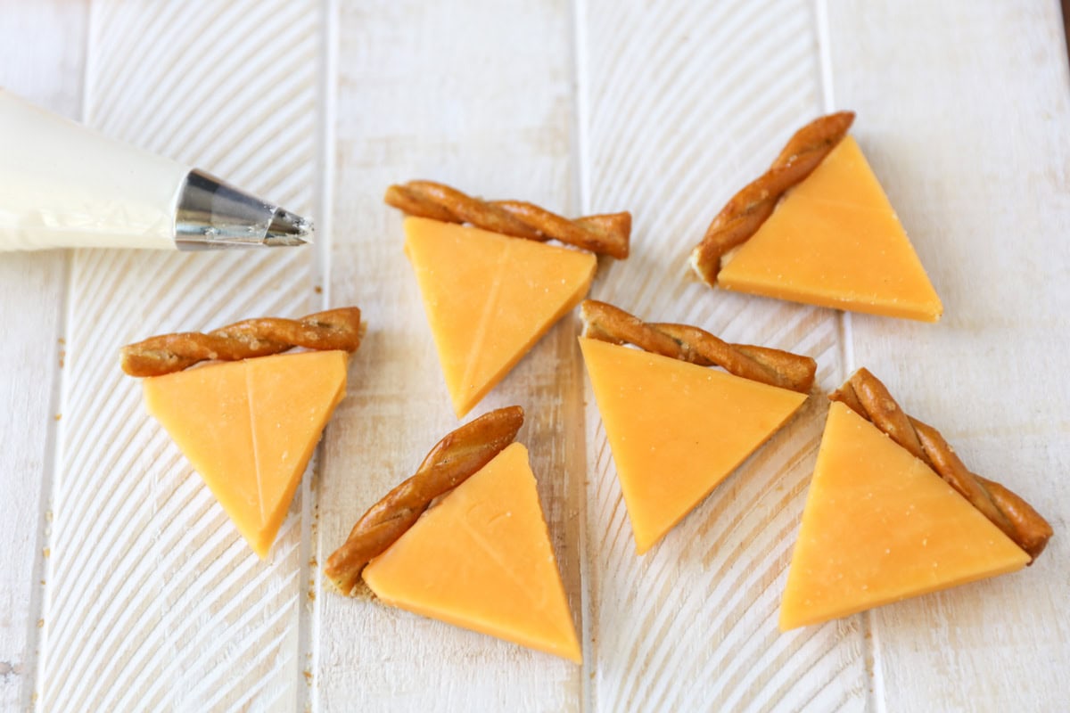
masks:
{"label": "grooved white plank under the metal piping tip and leftmost cheese triangle", "polygon": [[[86,119],[305,212],[316,184],[317,9],[96,2]],[[74,254],[43,708],[296,706],[300,502],[260,562],[146,415],[116,350],[150,334],[304,313],[311,264],[308,250]]]}

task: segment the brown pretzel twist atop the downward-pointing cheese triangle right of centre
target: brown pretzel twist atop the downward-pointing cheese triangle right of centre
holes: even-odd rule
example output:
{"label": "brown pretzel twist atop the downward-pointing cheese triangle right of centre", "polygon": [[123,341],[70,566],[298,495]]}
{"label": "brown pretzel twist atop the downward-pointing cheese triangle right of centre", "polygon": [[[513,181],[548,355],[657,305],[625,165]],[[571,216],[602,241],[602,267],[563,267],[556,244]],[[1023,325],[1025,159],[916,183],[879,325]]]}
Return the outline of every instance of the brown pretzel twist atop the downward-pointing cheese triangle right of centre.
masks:
{"label": "brown pretzel twist atop the downward-pointing cheese triangle right of centre", "polygon": [[807,393],[817,363],[810,357],[750,344],[730,344],[685,324],[648,324],[594,299],[580,305],[583,336],[613,344],[625,342],[700,367],[721,367],[730,374]]}

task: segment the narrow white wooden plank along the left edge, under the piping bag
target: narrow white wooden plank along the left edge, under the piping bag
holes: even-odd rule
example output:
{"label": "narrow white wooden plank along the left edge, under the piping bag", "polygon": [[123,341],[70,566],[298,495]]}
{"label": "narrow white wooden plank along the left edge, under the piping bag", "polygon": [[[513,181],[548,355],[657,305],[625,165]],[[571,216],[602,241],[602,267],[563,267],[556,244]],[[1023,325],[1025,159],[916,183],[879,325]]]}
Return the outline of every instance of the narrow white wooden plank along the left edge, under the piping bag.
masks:
{"label": "narrow white wooden plank along the left edge, under the piping bag", "polygon": [[[87,4],[0,0],[0,87],[67,117],[81,113]],[[33,691],[48,483],[52,474],[67,254],[0,258],[0,710]]]}

